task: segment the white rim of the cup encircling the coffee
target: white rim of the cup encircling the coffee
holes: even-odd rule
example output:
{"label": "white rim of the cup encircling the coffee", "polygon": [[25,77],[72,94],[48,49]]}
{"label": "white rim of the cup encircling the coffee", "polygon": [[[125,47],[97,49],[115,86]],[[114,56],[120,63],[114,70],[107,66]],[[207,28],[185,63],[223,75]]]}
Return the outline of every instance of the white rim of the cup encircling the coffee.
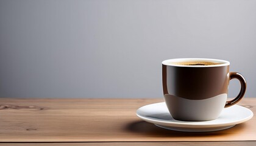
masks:
{"label": "white rim of the cup encircling the coffee", "polygon": [[[174,64],[180,61],[212,61],[215,63],[221,64],[213,64],[213,65],[181,65],[181,64]],[[172,64],[173,63],[173,64]],[[226,60],[219,60],[219,59],[212,59],[212,58],[173,58],[169,60],[162,61],[163,65],[166,66],[177,66],[177,67],[186,67],[186,68],[211,68],[211,67],[219,67],[219,66],[229,66],[229,61]]]}

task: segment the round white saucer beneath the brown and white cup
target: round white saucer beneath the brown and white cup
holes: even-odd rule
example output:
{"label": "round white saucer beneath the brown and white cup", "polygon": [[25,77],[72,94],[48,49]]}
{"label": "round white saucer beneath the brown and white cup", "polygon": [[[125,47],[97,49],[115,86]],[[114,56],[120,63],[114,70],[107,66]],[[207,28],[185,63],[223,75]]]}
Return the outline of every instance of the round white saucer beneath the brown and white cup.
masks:
{"label": "round white saucer beneath the brown and white cup", "polygon": [[165,102],[145,105],[137,109],[137,116],[146,122],[154,123],[158,127],[169,130],[187,132],[224,130],[238,123],[246,122],[253,115],[250,109],[233,105],[229,108],[224,108],[218,119],[204,122],[188,122],[173,119],[171,114],[169,114]]}

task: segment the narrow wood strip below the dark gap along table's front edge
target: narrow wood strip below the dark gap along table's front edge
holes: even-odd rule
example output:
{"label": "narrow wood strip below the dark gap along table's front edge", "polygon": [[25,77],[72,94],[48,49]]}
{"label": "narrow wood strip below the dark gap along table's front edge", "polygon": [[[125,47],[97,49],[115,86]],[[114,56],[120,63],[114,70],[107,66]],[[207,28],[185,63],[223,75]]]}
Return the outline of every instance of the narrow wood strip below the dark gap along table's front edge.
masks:
{"label": "narrow wood strip below the dark gap along table's front edge", "polygon": [[238,142],[58,142],[58,143],[4,143],[0,146],[134,146],[134,145],[146,145],[146,146],[198,146],[198,145],[211,145],[211,146],[255,146],[255,141],[238,141]]}

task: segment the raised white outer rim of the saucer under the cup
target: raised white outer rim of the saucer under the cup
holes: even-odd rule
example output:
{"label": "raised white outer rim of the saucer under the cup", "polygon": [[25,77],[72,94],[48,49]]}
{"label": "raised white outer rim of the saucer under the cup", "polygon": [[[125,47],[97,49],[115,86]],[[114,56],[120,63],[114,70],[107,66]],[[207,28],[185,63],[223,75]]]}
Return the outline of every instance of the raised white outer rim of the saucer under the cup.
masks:
{"label": "raised white outer rim of the saucer under the cup", "polygon": [[[158,102],[158,103],[151,103],[149,105],[144,105],[144,106],[150,106],[150,105],[156,105],[156,104],[164,104],[165,102]],[[240,105],[233,105],[233,106],[237,106],[237,108],[243,108],[245,109],[247,112],[249,112],[249,116],[243,118],[243,119],[238,119],[238,120],[234,120],[231,122],[223,122],[223,123],[209,123],[210,121],[213,120],[207,120],[207,121],[200,121],[200,122],[196,122],[196,121],[182,121],[182,120],[176,120],[174,119],[174,121],[163,121],[163,120],[154,120],[148,117],[144,117],[141,116],[140,114],[138,114],[138,111],[143,108],[144,106],[141,106],[140,108],[137,109],[137,116],[140,117],[141,119],[145,120],[146,122],[150,122],[150,123],[154,123],[154,124],[158,124],[158,125],[163,125],[163,126],[168,126],[168,127],[188,127],[188,128],[207,128],[207,127],[226,127],[226,126],[230,126],[230,125],[236,125],[239,123],[243,123],[246,122],[247,120],[252,119],[252,117],[254,116],[254,113],[251,111],[251,109],[246,108],[244,106],[240,106]],[[218,119],[215,119],[218,120]]]}

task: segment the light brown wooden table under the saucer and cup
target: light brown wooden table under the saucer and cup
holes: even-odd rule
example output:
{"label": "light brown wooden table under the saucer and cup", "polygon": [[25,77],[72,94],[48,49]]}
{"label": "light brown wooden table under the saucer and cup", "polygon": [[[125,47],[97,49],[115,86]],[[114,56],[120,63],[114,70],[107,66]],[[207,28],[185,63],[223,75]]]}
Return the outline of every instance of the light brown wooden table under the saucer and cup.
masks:
{"label": "light brown wooden table under the saucer and cup", "polygon": [[[256,145],[255,116],[205,133],[165,130],[136,116],[163,99],[0,99],[0,145]],[[256,98],[238,105],[255,113]]]}

